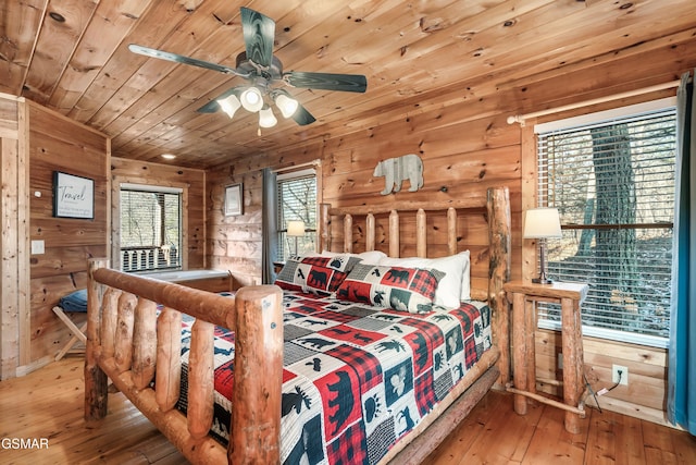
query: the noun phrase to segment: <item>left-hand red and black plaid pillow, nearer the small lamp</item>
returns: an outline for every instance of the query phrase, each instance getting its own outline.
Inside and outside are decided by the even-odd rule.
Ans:
[[[335,257],[304,257],[289,259],[275,283],[288,291],[331,295],[344,282],[348,272],[360,258],[337,255]]]

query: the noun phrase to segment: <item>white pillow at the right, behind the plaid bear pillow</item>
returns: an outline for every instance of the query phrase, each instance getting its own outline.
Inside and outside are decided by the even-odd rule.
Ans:
[[[435,291],[435,304],[446,308],[459,308],[461,301],[470,298],[469,250],[442,258],[382,258],[377,265],[405,268],[431,268],[445,273]],[[467,282],[465,290],[463,282]],[[464,297],[465,296],[465,297]]]

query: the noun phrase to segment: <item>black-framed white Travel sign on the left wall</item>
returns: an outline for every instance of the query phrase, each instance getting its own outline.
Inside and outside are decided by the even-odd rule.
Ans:
[[[53,217],[95,218],[95,181],[53,171]]]

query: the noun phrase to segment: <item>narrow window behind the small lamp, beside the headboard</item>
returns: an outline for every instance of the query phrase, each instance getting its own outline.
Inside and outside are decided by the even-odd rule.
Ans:
[[[277,176],[278,250],[277,259],[316,249],[316,173],[313,169],[282,173]],[[302,221],[304,234],[288,235],[288,222]]]

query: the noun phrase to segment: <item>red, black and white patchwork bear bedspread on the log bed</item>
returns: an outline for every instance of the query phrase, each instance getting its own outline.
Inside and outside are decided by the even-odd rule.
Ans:
[[[490,347],[484,303],[409,314],[286,291],[284,307],[284,464],[377,463]],[[234,334],[215,334],[212,433],[226,442]],[[183,376],[184,400],[186,389]]]

